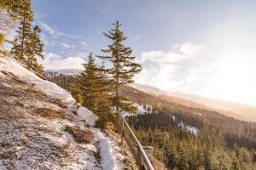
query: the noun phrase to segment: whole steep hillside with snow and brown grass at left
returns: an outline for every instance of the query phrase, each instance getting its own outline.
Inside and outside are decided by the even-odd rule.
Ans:
[[[119,139],[66,90],[0,56],[0,169],[123,169]]]

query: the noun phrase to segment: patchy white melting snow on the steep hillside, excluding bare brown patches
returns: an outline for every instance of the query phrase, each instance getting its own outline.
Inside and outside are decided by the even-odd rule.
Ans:
[[[26,70],[15,59],[0,56],[0,80],[1,77],[3,77],[1,71],[11,72],[23,82],[27,82],[34,88],[40,89],[50,98],[61,99],[61,101],[67,102],[70,107],[75,107],[75,100],[69,92],[58,87],[55,83],[42,80],[32,73],[32,71]],[[1,86],[8,87],[7,85],[8,84],[4,82]],[[14,87],[9,88],[15,89]],[[19,99],[18,97],[16,99]],[[27,103],[26,105],[33,105],[34,108],[38,106],[41,107],[42,105],[53,109],[59,108],[59,106],[46,100],[27,99],[24,102]],[[91,111],[84,107],[80,107],[77,111],[78,116],[74,116],[72,121],[66,119],[56,119],[52,121],[29,115],[30,111],[33,110],[28,111],[27,108],[22,108],[22,113],[27,117],[26,119],[17,121],[10,120],[9,122],[0,119],[0,143],[9,142],[17,145],[20,144],[23,135],[29,135],[27,137],[29,138],[27,143],[29,147],[20,144],[21,147],[17,146],[11,148],[12,150],[15,150],[14,153],[22,154],[22,156],[19,155],[20,160],[11,160],[15,165],[18,164],[17,169],[30,169],[33,168],[31,167],[32,165],[36,164],[41,165],[40,168],[43,169],[123,169],[124,156],[121,155],[121,150],[118,144],[113,141],[113,139],[110,139],[105,133],[102,133],[100,129],[93,127],[97,120],[97,116]],[[67,110],[66,112],[71,116],[73,115],[71,111]],[[11,113],[7,112],[4,114]],[[4,114],[2,112],[0,116],[4,116]],[[79,125],[79,127],[84,128],[84,122],[82,121],[86,122],[90,126],[90,131],[95,134],[95,138],[90,144],[77,144],[73,139],[73,136],[63,130],[67,125]],[[19,141],[19,143],[17,143],[16,140]],[[65,145],[67,145],[67,147]],[[57,158],[55,157],[55,154],[60,154],[56,148],[63,149],[62,151],[67,154],[67,158],[62,158],[61,155],[61,159],[63,159],[63,162],[61,162],[67,164],[65,167],[61,167],[56,160]],[[97,164],[93,154],[97,149],[100,151],[101,155],[100,165]],[[8,149],[0,146],[0,152],[3,151],[8,152]],[[0,169],[4,168],[2,167],[3,161],[4,160],[0,159]]]

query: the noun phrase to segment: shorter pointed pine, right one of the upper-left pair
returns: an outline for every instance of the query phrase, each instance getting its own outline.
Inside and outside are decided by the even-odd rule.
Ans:
[[[32,70],[37,71],[38,73],[43,71],[43,68],[41,65],[38,65],[37,57],[39,57],[40,59],[44,59],[44,44],[41,42],[40,37],[38,35],[40,32],[41,30],[39,26],[35,26],[33,28],[27,47],[29,48],[29,50],[27,52],[28,54],[26,60],[26,64],[30,68],[32,68]]]

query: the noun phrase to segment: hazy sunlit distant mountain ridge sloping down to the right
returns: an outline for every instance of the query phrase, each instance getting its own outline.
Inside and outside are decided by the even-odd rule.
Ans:
[[[190,107],[198,107],[203,109],[212,109],[218,111],[225,116],[231,116],[236,119],[256,122],[256,107],[250,105],[239,104],[231,101],[225,101],[221,99],[211,99],[194,94],[181,94],[175,92],[166,92],[159,88],[150,87],[141,84],[132,84],[132,88],[137,88],[148,94],[154,94],[168,99],[174,103],[180,105],[187,105]]]

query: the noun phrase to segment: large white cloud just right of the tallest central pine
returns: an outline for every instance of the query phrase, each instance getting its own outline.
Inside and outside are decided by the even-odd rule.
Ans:
[[[189,67],[181,65],[180,61],[196,59],[203,52],[202,45],[191,42],[174,45],[167,52],[163,50],[143,52],[141,54],[143,71],[137,75],[135,80],[137,83],[164,90],[183,88],[187,82],[196,81],[201,76],[201,71],[189,71]],[[181,77],[179,71],[183,71],[187,75]]]

